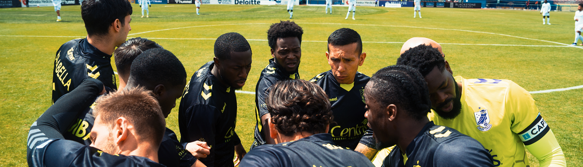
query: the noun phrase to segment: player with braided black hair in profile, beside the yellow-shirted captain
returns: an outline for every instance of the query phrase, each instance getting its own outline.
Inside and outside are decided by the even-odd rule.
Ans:
[[[494,166],[480,142],[427,119],[427,83],[415,68],[380,69],[367,83],[364,98],[377,149],[396,145],[382,166]]]

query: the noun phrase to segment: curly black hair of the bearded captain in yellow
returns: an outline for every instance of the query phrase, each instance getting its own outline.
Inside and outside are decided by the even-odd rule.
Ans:
[[[432,47],[431,44],[429,46],[420,44],[401,54],[401,57],[397,58],[396,65],[407,65],[416,68],[424,77],[436,66],[440,71],[443,71],[445,69],[444,62],[445,59],[437,48]]]

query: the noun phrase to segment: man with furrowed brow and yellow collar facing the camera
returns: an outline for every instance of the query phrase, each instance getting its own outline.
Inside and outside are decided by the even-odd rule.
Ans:
[[[330,98],[334,123],[329,134],[340,147],[354,149],[372,159],[377,153],[375,140],[364,117],[363,90],[370,77],[358,72],[366,53],[362,52],[360,34],[342,28],[328,37],[326,59],[331,69],[310,79]],[[349,133],[343,133],[349,131]]]

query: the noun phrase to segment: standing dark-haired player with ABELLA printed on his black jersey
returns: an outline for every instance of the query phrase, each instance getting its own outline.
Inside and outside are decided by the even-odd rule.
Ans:
[[[87,38],[68,41],[57,51],[52,71],[53,103],[73,91],[86,76],[99,79],[108,89],[117,89],[111,54],[132,30],[131,14],[132,5],[125,0],[82,2]]]

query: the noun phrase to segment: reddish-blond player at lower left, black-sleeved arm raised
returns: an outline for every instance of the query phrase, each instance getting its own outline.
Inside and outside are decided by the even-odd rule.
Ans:
[[[157,163],[156,152],[166,122],[152,92],[143,88],[97,99],[92,145],[63,138],[66,125],[74,119],[63,117],[66,112],[91,105],[98,93],[105,93],[103,83],[89,78],[33,123],[27,140],[29,166],[164,166]]]

